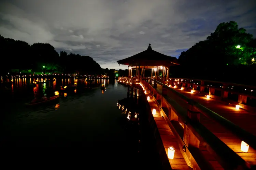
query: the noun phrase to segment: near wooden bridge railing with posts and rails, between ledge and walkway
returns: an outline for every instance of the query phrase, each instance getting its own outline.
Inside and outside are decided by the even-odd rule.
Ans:
[[[176,82],[176,81],[173,81]],[[212,112],[201,104],[187,98],[174,89],[168,88],[165,84],[153,79],[142,81],[151,92],[154,100],[158,103],[161,115],[168,122],[171,130],[179,138],[180,150],[188,165],[192,168],[213,169],[207,160],[199,152],[200,143],[206,146],[219,164],[224,169],[249,169],[247,163],[231,150],[224,142],[217,138],[200,122],[200,113],[221,123],[250,147],[256,149],[256,137],[227,119]],[[189,104],[189,110],[182,108],[174,99],[168,97],[168,91]],[[181,128],[180,122],[182,122]]]

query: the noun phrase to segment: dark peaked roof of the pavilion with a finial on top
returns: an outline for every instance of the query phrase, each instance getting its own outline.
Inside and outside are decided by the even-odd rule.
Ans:
[[[161,54],[155,50],[152,50],[151,44],[149,44],[147,50],[135,54],[131,57],[118,60],[118,64],[127,66],[172,66],[179,65],[176,57],[171,57],[165,54]]]

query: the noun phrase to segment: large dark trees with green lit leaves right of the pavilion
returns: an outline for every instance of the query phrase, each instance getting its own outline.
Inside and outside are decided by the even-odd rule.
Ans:
[[[252,84],[256,75],[256,39],[234,21],[221,23],[206,40],[179,56],[175,77]],[[254,82],[255,83],[255,82]]]

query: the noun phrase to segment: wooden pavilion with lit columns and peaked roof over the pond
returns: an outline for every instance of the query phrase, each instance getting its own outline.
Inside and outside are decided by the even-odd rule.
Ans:
[[[155,77],[156,80],[159,79],[159,71],[162,73],[162,78],[166,75],[165,77],[168,79],[170,67],[179,65],[176,57],[152,50],[151,44],[148,45],[147,50],[123,60],[118,60],[117,63],[128,66],[129,78],[132,77],[132,70],[136,70],[137,78],[144,77],[145,71],[151,70],[151,78]],[[153,70],[155,71],[155,76],[153,76]]]

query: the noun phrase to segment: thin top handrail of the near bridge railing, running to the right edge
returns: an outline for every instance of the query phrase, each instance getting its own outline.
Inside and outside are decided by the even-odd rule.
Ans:
[[[151,79],[153,80],[153,79]],[[160,82],[153,80],[154,82],[160,84]],[[161,83],[162,84],[162,83]],[[203,105],[197,103],[196,101],[189,99],[188,97],[182,95],[180,92],[169,88],[175,95],[179,96],[192,106],[194,106],[195,109],[200,111],[203,115],[213,119],[214,121],[220,123],[222,126],[224,126],[226,129],[231,131],[234,135],[236,135],[239,139],[246,142],[248,145],[250,145],[253,149],[256,150],[256,136],[252,135],[251,133],[245,131],[244,129],[240,128],[238,125],[234,124],[233,122],[227,120],[226,118],[218,115],[217,113],[211,111],[210,109],[204,107]]]

